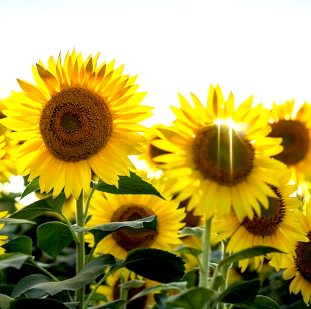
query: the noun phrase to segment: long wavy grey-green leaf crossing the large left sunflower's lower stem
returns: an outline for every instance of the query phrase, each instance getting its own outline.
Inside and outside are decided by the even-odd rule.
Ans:
[[[50,295],[57,294],[63,290],[76,291],[85,287],[88,283],[96,279],[103,274],[106,267],[115,265],[115,257],[110,254],[105,254],[99,258],[95,258],[91,262],[87,263],[85,267],[73,278],[69,278],[64,281],[58,282],[41,282],[41,283],[29,283],[19,286],[19,283],[15,286],[15,297],[19,297],[24,292],[31,289],[42,290]],[[13,295],[13,294],[12,294]]]

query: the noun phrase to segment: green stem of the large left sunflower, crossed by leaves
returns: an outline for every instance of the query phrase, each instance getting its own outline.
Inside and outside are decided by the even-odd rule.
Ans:
[[[81,228],[85,225],[84,215],[84,192],[82,190],[80,197],[76,201],[76,224]],[[77,232],[78,242],[76,242],[76,273],[79,274],[85,265],[85,244],[84,231]],[[80,303],[79,308],[83,308],[85,297],[85,287],[76,291],[76,301]]]

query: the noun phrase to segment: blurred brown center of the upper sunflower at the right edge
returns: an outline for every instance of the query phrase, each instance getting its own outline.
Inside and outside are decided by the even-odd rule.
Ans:
[[[273,158],[282,161],[286,165],[294,165],[305,158],[310,147],[310,137],[305,124],[295,120],[279,120],[271,124],[272,131],[268,136],[282,137],[281,153]]]

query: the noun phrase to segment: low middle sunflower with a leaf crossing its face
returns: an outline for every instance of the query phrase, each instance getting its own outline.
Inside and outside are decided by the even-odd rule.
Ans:
[[[147,194],[103,194],[95,192],[90,203],[88,227],[109,222],[132,221],[157,216],[157,230],[146,228],[122,228],[108,235],[99,242],[97,253],[111,253],[124,259],[128,251],[135,248],[148,247],[170,251],[172,246],[181,244],[178,231],[183,228],[181,220],[185,217],[183,209],[178,209],[178,202],[165,201],[155,195]],[[93,246],[92,235],[85,235],[86,242]]]

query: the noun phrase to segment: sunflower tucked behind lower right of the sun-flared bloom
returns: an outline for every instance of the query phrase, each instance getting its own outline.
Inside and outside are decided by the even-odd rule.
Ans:
[[[228,219],[215,220],[213,229],[219,234],[215,242],[229,239],[226,252],[236,253],[253,246],[269,246],[289,252],[292,242],[308,241],[305,231],[301,228],[302,212],[298,208],[302,203],[296,197],[289,197],[297,188],[297,185],[287,185],[290,176],[290,171],[275,174],[280,186],[270,185],[270,187],[277,198],[269,197],[269,207],[266,209],[260,206],[260,213],[253,219],[246,217],[241,223],[232,211]],[[280,262],[281,254],[269,253],[268,257],[274,266]],[[242,267],[241,270],[244,272],[246,267],[253,264],[254,269],[260,270],[263,262],[264,256],[256,256],[251,260],[240,260],[239,267]]]

